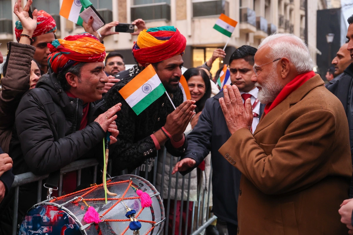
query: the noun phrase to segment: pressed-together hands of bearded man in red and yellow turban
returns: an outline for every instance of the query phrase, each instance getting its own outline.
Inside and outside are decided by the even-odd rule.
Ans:
[[[191,117],[195,114],[193,110],[196,108],[196,105],[194,104],[195,101],[186,100],[167,116],[164,129],[169,132],[174,141],[178,142],[183,138],[187,124],[189,124]]]

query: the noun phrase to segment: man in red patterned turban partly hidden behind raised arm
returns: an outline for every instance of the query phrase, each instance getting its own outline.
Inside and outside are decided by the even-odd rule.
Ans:
[[[50,14],[41,10],[38,11],[37,16],[37,27],[33,32],[33,35],[28,35],[33,39],[31,45],[36,48],[34,53],[34,60],[41,65],[41,73],[48,72],[47,57],[49,55],[49,49],[47,43],[52,43],[55,40],[54,33],[56,32],[55,20]],[[20,35],[23,33],[23,27],[21,22],[16,21],[15,35],[17,41],[20,40]],[[24,33],[25,34],[25,33]]]

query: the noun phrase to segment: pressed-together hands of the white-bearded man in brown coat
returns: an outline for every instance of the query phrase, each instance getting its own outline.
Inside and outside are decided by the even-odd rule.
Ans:
[[[223,90],[224,98],[220,98],[219,102],[229,131],[233,133],[241,128],[250,130],[253,114],[250,98],[245,100],[245,108],[243,100],[237,86],[227,85]]]

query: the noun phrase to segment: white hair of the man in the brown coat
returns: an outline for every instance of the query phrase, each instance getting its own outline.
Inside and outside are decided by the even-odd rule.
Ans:
[[[259,49],[267,44],[271,51],[268,58],[276,60],[286,57],[291,61],[299,74],[309,72],[314,65],[306,44],[297,36],[290,33],[276,33],[265,38]]]

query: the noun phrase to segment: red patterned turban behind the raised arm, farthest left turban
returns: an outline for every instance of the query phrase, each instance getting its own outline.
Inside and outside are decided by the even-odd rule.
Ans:
[[[20,41],[20,35],[22,31],[23,31],[22,24],[19,20],[17,20],[16,27],[15,27],[17,42]],[[34,31],[32,37],[37,37],[45,33],[51,33],[51,32],[55,33],[55,31],[56,31],[56,23],[54,18],[43,10],[38,11],[37,28]]]

